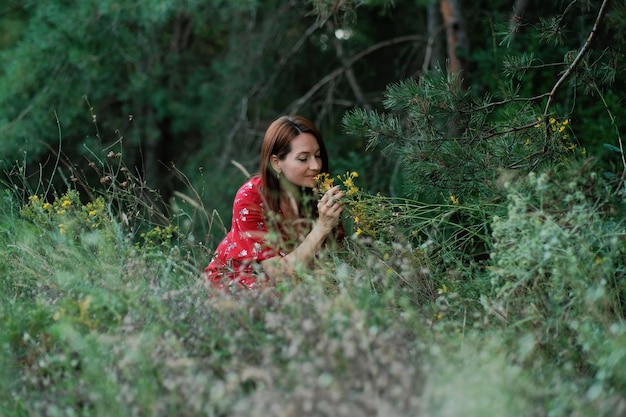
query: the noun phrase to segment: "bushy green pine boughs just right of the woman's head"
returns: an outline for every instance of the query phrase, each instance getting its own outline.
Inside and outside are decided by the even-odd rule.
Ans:
[[[515,101],[498,109],[489,98],[459,92],[457,80],[441,71],[391,85],[384,103],[391,114],[356,109],[344,127],[402,161],[406,190],[418,200],[497,198],[503,172],[529,172],[577,152],[568,119],[543,122]],[[513,126],[500,120],[512,114]]]

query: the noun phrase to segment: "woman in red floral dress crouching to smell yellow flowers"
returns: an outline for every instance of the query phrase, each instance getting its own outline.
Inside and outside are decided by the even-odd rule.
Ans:
[[[206,278],[214,284],[280,279],[308,266],[329,238],[343,238],[343,192],[315,194],[316,176],[328,173],[322,135],[301,116],[282,116],[265,132],[260,173],[237,192],[232,226],[218,245]],[[314,221],[315,220],[315,221]]]

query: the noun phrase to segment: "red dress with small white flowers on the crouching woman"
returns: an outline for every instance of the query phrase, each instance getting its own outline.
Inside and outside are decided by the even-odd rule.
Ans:
[[[204,269],[214,284],[240,283],[253,288],[257,278],[265,278],[260,262],[285,253],[270,246],[266,239],[267,219],[261,196],[261,177],[246,181],[235,195],[231,229],[215,249]]]

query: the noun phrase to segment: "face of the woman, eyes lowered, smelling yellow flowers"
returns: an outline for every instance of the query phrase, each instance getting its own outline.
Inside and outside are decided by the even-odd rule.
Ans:
[[[301,133],[291,141],[291,151],[280,160],[272,155],[274,169],[294,185],[313,188],[315,176],[322,169],[322,157],[317,139],[310,133]]]

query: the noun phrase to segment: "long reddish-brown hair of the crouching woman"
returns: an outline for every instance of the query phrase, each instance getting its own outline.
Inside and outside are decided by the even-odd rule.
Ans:
[[[317,139],[322,158],[320,173],[328,173],[328,153],[322,139],[322,134],[315,125],[302,116],[281,116],[267,128],[263,145],[261,146],[261,181],[263,183],[263,197],[268,205],[267,209],[273,212],[280,210],[280,181],[272,168],[270,159],[276,155],[284,160],[291,152],[291,141],[301,133],[310,133]],[[303,189],[304,194],[312,195],[313,190]],[[309,198],[309,200],[313,200]],[[302,202],[301,202],[302,203]],[[312,206],[313,207],[313,206]],[[315,211],[313,207],[313,212]]]

